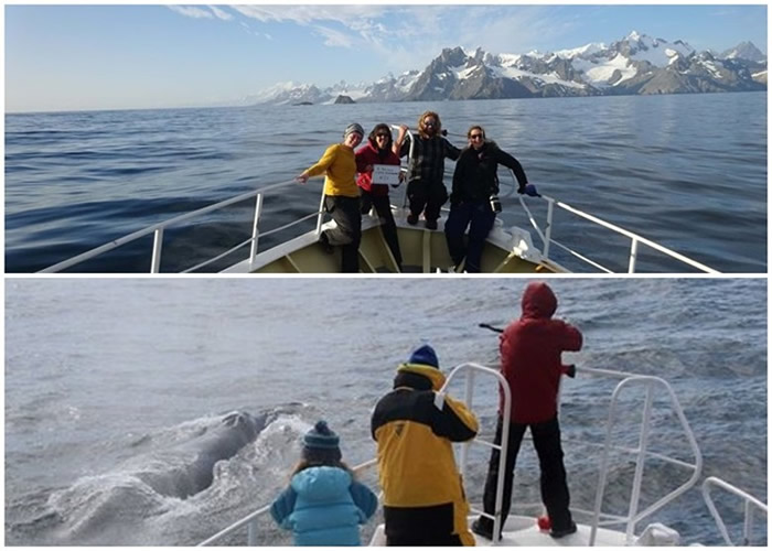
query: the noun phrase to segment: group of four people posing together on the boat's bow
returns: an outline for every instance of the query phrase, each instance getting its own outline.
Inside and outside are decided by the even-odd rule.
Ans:
[[[440,209],[450,198],[444,234],[453,269],[460,270],[463,266],[468,273],[479,272],[485,238],[501,212],[496,170],[500,164],[512,169],[518,193],[525,193],[528,184],[525,171],[517,159],[489,140],[479,125],[467,131],[468,144],[463,149],[446,138],[440,117],[435,111],[426,111],[418,118],[418,131],[410,138],[412,147],[406,139],[409,131],[403,125],[395,140],[388,125],[376,125],[367,143],[357,150],[365,131],[354,122],[346,127],[341,143],[330,145],[319,162],[298,175],[301,183],[312,176],[325,176],[324,208],[335,220],[335,227],[324,230],[320,241],[329,252],[341,247],[342,272],[358,272],[362,215],[375,208],[384,239],[401,271],[403,256],[392,214],[389,186],[374,183],[373,172],[379,164],[399,166],[400,158],[409,154],[407,223],[416,226],[422,215],[426,228],[436,230]],[[446,159],[457,161],[450,196],[443,181]],[[469,239],[464,242],[468,228]]]

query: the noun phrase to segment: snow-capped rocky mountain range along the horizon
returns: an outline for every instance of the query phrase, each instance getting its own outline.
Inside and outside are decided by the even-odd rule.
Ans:
[[[716,54],[633,31],[610,45],[591,43],[548,53],[444,48],[423,71],[389,74],[372,84],[340,82],[329,88],[277,84],[243,104],[330,104],[340,96],[366,102],[765,89],[766,56],[750,42]]]

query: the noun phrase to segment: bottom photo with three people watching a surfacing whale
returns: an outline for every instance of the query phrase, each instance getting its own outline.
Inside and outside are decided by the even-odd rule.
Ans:
[[[8,545],[766,545],[735,279],[6,279]]]

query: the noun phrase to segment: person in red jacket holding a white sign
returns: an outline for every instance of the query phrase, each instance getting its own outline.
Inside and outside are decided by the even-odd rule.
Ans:
[[[397,225],[392,214],[392,202],[388,198],[388,185],[373,184],[374,164],[394,164],[399,166],[399,156],[392,151],[392,130],[388,125],[376,125],[367,138],[367,143],[356,152],[356,171],[360,177],[356,185],[361,188],[360,206],[362,214],[369,213],[372,207],[380,218],[380,230],[388,245],[399,271],[403,269],[403,253],[397,239]]]

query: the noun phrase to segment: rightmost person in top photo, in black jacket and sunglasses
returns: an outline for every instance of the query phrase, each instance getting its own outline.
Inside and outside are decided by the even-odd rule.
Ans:
[[[485,139],[485,130],[482,127],[470,128],[467,138],[469,147],[461,151],[455,163],[450,215],[444,225],[444,234],[454,270],[460,269],[465,258],[465,271],[476,273],[480,271],[485,238],[493,227],[496,213],[501,212],[496,169],[503,164],[514,171],[518,184],[517,193],[525,193],[528,179],[517,159],[498,149],[495,142]],[[469,244],[464,246],[463,236],[467,228]]]

